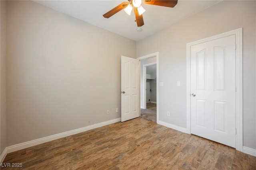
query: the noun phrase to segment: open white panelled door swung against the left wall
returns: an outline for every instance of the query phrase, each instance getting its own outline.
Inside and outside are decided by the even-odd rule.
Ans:
[[[121,56],[121,121],[139,117],[139,60]]]

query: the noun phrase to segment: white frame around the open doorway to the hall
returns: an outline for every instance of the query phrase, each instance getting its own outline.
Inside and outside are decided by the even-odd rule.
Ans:
[[[152,54],[149,54],[149,55],[144,55],[142,57],[138,57],[137,59],[139,60],[139,72],[140,72],[140,61],[141,60],[144,60],[144,59],[149,59],[149,58],[152,58],[152,57],[156,57],[156,123],[159,122],[159,88],[158,88],[158,79],[159,79],[159,53],[156,52],[156,53],[152,53]],[[140,81],[140,78],[139,78],[139,81]],[[139,82],[140,84],[141,82]],[[139,92],[140,93],[140,92]],[[141,96],[140,96],[141,97]],[[140,102],[139,102],[140,104]],[[140,107],[139,107],[140,108]],[[159,124],[159,123],[158,123]]]

